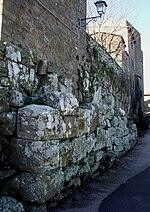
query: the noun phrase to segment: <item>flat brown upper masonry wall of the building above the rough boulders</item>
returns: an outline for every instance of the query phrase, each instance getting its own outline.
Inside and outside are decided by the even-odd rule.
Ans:
[[[75,81],[76,55],[85,39],[77,19],[84,18],[85,11],[86,0],[5,0],[1,40],[34,50],[49,72],[73,76]]]

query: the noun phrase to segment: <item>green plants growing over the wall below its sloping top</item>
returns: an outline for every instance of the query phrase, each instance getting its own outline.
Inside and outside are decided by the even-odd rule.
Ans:
[[[112,67],[109,67],[105,61],[102,61],[97,46],[94,46],[85,57],[81,57],[78,69],[78,93],[82,103],[92,101],[94,92],[100,86],[104,86],[105,82],[110,84],[108,89],[112,87],[119,98],[123,98],[128,92],[128,82],[125,74],[118,75]],[[77,57],[78,58],[78,57]],[[86,62],[85,62],[86,61]],[[89,81],[88,89],[84,90],[84,80]],[[104,86],[105,87],[105,86]],[[106,94],[102,95],[102,99],[107,98]]]

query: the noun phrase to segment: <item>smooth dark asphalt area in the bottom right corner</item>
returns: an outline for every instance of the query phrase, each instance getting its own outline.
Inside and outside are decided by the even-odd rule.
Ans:
[[[150,168],[129,179],[111,193],[98,212],[149,212]]]

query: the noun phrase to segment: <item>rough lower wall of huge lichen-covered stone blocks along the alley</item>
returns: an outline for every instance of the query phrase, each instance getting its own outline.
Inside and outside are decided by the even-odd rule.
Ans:
[[[136,143],[125,73],[91,38],[76,55],[78,81],[52,72],[36,54],[0,45],[0,166],[5,194],[30,204],[113,166]]]

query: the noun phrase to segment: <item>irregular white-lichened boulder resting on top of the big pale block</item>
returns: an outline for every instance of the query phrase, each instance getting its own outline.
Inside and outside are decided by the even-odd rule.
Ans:
[[[78,100],[71,93],[51,92],[43,97],[45,105],[61,111],[62,115],[74,115],[79,106]]]

